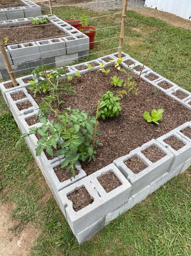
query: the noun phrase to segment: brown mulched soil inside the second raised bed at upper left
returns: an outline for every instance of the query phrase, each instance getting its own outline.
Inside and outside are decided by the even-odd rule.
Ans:
[[[8,44],[17,44],[25,41],[36,41],[46,38],[65,37],[67,35],[51,22],[37,26],[32,23],[26,25],[0,26],[0,34],[3,38],[8,37]]]

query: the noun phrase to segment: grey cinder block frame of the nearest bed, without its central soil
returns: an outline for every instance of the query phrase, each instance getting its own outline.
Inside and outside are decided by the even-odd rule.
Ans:
[[[60,21],[58,21],[57,25],[60,26]],[[124,68],[130,69],[137,66],[142,67],[143,65],[126,53],[123,53],[123,57],[122,66]],[[104,56],[94,61],[76,64],[68,67],[70,71],[69,74],[73,76],[76,71],[79,71],[81,74],[94,72],[94,70],[100,68],[102,62],[106,66],[109,66],[109,64],[111,64],[110,61],[116,61],[116,59],[117,53],[113,53],[112,55]],[[91,70],[88,69],[89,63],[93,67]],[[41,125],[38,120],[33,124],[27,123],[28,119],[35,117],[38,112],[38,106],[34,103],[34,100],[26,90],[29,84],[25,79],[32,78],[32,75],[30,75],[17,79],[20,86],[16,88],[5,88],[6,84],[9,84],[10,81],[0,84],[3,97],[9,105],[10,110],[13,112],[21,133],[28,132],[30,127]],[[167,97],[173,97],[176,102],[190,109],[188,106],[190,93],[182,90],[178,85],[163,78],[147,67],[145,68],[145,72],[141,75],[141,78],[148,81],[153,88],[157,87],[159,90],[163,91]],[[179,94],[173,96],[177,91],[183,92],[186,94],[186,97],[180,99],[178,98]],[[17,92],[23,92],[24,98],[14,100],[13,96]],[[26,101],[30,102],[32,106],[24,111],[19,110],[17,104]],[[111,162],[113,162],[112,164],[95,171],[89,176],[87,176],[81,166],[76,166],[79,170],[76,179],[71,177],[64,182],[60,181],[56,175],[56,168],[58,168],[64,160],[64,155],[48,159],[47,154],[42,152],[41,156],[36,157],[35,147],[38,139],[34,134],[25,139],[54,198],[69,223],[73,234],[77,237],[79,243],[83,243],[101,230],[104,225],[112,221],[112,219],[131,209],[172,177],[177,176],[189,168],[191,165],[190,131],[191,122],[186,122],[167,134],[159,136],[157,139],[147,141],[140,147],[134,148],[134,150],[131,150],[128,154],[124,150],[124,156],[118,159],[110,159]],[[178,148],[172,147],[171,141],[169,140],[171,137],[174,137],[174,140],[178,141]],[[151,148],[152,150],[150,152]],[[153,151],[153,148],[157,151]],[[149,154],[147,154],[148,151],[150,152]],[[144,167],[142,167],[141,170],[138,170],[137,167],[134,170],[133,167],[129,165],[129,160],[131,159],[131,162],[134,157],[138,158],[141,164],[143,164]],[[137,170],[138,172],[136,172]],[[119,186],[107,191],[100,181],[100,178],[104,177],[104,175],[114,175],[119,181]],[[88,194],[89,203],[81,209],[78,209],[70,196],[73,193],[78,193],[78,190],[81,189]]]

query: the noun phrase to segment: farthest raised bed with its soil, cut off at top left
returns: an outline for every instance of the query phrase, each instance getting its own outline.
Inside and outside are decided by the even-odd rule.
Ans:
[[[5,0],[0,5],[0,21],[23,19],[40,15],[42,15],[40,6],[29,0]]]

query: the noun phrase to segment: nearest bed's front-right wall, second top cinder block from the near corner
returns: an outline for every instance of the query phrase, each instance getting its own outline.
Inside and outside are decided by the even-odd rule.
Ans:
[[[150,146],[156,146],[161,151],[163,151],[166,155],[165,157],[159,159],[157,162],[152,163],[149,159],[147,159],[141,151],[144,151],[146,148]],[[140,171],[138,174],[134,174],[132,170],[130,170],[125,162],[128,158],[138,157],[147,167]],[[132,184],[131,195],[134,195],[139,192],[140,189],[148,186],[151,182],[155,181],[158,177],[163,175],[168,171],[170,164],[172,163],[172,159],[174,155],[167,150],[164,146],[159,144],[155,139],[143,144],[141,147],[135,148],[129,154],[123,157],[119,157],[114,160],[114,164],[119,168],[119,170],[124,174],[128,181]]]

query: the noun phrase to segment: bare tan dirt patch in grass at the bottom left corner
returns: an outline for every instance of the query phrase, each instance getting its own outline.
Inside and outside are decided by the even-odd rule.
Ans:
[[[17,221],[11,218],[14,207],[13,204],[0,205],[0,255],[28,256],[40,230],[28,223],[21,233],[14,235],[9,230],[17,224]]]

